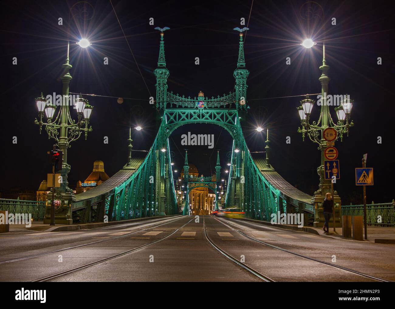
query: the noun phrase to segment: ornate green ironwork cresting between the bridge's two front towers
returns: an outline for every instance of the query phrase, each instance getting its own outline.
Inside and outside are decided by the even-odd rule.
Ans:
[[[167,99],[166,99],[166,108],[174,108],[174,107],[183,107],[183,108],[195,108],[198,106],[199,102],[204,102],[205,107],[211,108],[225,108],[227,105],[232,104],[235,102],[236,97],[235,93],[229,92],[227,95],[217,96],[216,98],[211,97],[194,97],[191,98],[190,96],[179,96],[177,94],[173,94],[173,92],[167,92]]]

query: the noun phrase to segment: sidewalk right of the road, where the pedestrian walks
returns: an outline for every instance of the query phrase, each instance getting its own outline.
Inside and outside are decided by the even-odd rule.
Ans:
[[[333,228],[329,228],[329,233],[325,233],[322,230],[322,228],[314,228],[313,226],[303,226],[303,228],[299,228],[297,225],[271,224],[271,222],[269,222],[269,221],[261,221],[261,220],[254,220],[254,219],[248,219],[248,218],[243,218],[243,220],[251,221],[251,222],[259,223],[259,224],[264,224],[264,225],[272,226],[275,228],[284,228],[287,230],[307,232],[307,233],[311,233],[311,234],[316,234],[316,235],[331,237],[331,238],[336,238],[336,239],[357,241],[352,238],[342,237],[343,231],[342,231],[341,227],[336,228],[337,234],[335,234],[333,232]],[[373,243],[395,244],[395,227],[368,226],[367,227],[367,234],[368,234],[367,240],[365,240],[365,234],[363,234],[363,237],[364,237],[363,241],[369,241],[369,242],[373,242]]]

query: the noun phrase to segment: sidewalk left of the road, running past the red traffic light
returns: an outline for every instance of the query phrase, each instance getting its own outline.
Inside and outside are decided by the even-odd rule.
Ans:
[[[150,219],[160,219],[160,218],[171,218],[177,217],[179,215],[169,215],[169,216],[156,216],[156,217],[145,217],[138,219],[120,220],[120,221],[110,221],[104,222],[94,222],[94,223],[83,223],[83,224],[56,224],[55,226],[50,226],[49,224],[43,224],[43,221],[33,221],[32,226],[26,228],[24,224],[10,224],[9,232],[4,232],[0,234],[15,234],[21,232],[61,232],[61,231],[73,231],[82,230],[86,228],[100,228],[103,226],[125,224],[139,221],[146,221]]]

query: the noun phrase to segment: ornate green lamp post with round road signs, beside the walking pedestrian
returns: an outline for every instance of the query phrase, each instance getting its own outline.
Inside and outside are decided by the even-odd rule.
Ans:
[[[314,46],[315,43],[312,42],[312,40],[305,40],[301,45],[306,48],[310,48]],[[331,180],[325,180],[324,176],[324,152],[325,149],[328,147],[327,141],[324,139],[324,130],[326,128],[333,128],[334,130],[336,130],[337,137],[335,140],[333,140],[333,142],[335,142],[338,139],[342,141],[343,134],[347,134],[348,136],[350,127],[354,126],[354,122],[350,121],[350,114],[354,101],[350,100],[349,96],[346,95],[346,98],[344,98],[340,102],[340,105],[335,107],[336,115],[338,118],[337,123],[333,121],[329,112],[329,106],[331,106],[332,104],[327,104],[328,84],[330,79],[327,75],[329,66],[326,65],[325,61],[325,42],[323,45],[323,59],[320,70],[322,71],[322,74],[318,80],[321,83],[321,99],[318,100],[317,103],[321,106],[321,111],[318,121],[313,121],[310,124],[310,115],[315,102],[314,100],[311,100],[308,96],[306,96],[304,100],[300,101],[301,106],[297,108],[302,126],[302,128],[298,128],[298,132],[302,134],[303,141],[305,140],[305,136],[307,135],[311,141],[318,144],[318,149],[321,151],[321,165],[317,168],[317,173],[320,176],[320,184],[318,185],[319,189],[314,192],[314,196],[311,200],[311,202],[314,203],[316,206],[316,218],[314,220],[314,226],[317,227],[322,227],[324,220],[323,214],[318,211],[318,205],[320,205],[320,203],[322,203],[322,201],[324,200],[325,194],[327,192],[331,192]],[[333,104],[335,103],[336,102],[333,102]],[[334,203],[337,203],[340,207],[341,200],[340,197],[337,195],[336,191],[334,192],[333,200]]]

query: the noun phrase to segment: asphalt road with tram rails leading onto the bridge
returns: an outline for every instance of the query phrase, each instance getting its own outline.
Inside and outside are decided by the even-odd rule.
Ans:
[[[258,243],[237,230],[334,266],[395,281],[395,245],[212,216],[201,216],[199,222],[188,216],[70,232],[0,234],[0,281],[35,281],[62,272],[48,281],[263,281],[243,265],[273,281],[375,281]],[[240,263],[214,248],[206,232]],[[26,258],[38,254],[43,255]],[[14,259],[20,260],[6,262]]]

